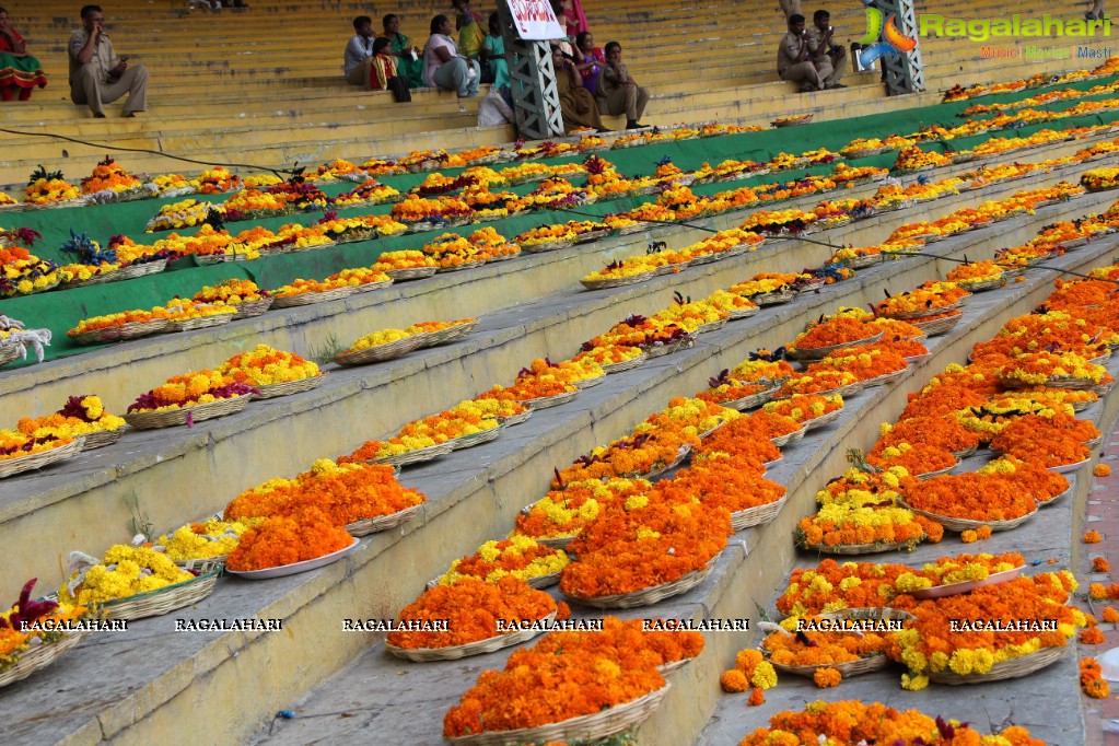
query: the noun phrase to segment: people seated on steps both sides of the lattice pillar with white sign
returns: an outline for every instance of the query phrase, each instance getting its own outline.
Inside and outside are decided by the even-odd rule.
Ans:
[[[342,56],[346,81],[370,91],[392,89],[397,102],[410,101],[411,88],[434,87],[468,98],[478,95],[480,84],[490,84],[490,94],[479,107],[479,124],[511,123],[509,68],[498,13],[489,15],[483,30],[483,16],[470,0],[451,0],[451,4],[454,26],[449,16],[432,18],[422,49],[401,32],[395,13],[385,16],[384,31],[376,38],[368,16],[355,18],[356,35]],[[552,44],[565,129],[605,131],[600,114],[624,114],[627,129],[641,128],[649,92],[622,64],[621,45],[611,41],[605,50],[594,46],[579,0],[556,0],[554,9],[561,28],[571,34]]]

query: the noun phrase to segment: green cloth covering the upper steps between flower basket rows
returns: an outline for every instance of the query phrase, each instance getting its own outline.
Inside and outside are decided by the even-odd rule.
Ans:
[[[1096,85],[1115,78],[1101,78],[1094,81],[1080,81],[1055,86],[1057,89],[1075,88],[1088,91]],[[962,101],[950,104],[938,104],[920,108],[908,108],[899,112],[887,112],[872,114],[846,120],[812,123],[796,128],[765,130],[762,132],[747,132],[741,134],[722,135],[700,140],[685,140],[681,142],[667,142],[623,150],[612,150],[603,153],[602,157],[609,160],[619,172],[629,177],[649,174],[656,168],[658,160],[669,155],[673,162],[686,170],[698,169],[704,162],[716,166],[726,159],[768,161],[781,152],[800,153],[807,149],[827,148],[836,151],[856,138],[880,136],[888,134],[910,134],[916,132],[922,126],[940,124],[942,126],[956,126],[965,120],[957,116],[963,110],[976,103],[991,104],[1021,101],[1036,95],[1044,88],[1034,91],[1021,91],[1017,93],[1006,93],[994,96],[984,96],[978,100]],[[1100,94],[1108,96],[1111,94]],[[1081,100],[1090,100],[1092,96],[1066,102],[1054,102],[1047,107],[1053,110],[1068,108]],[[1066,104],[1066,105],[1065,105]],[[988,115],[990,116],[990,115]],[[986,119],[986,117],[976,117]],[[1119,113],[1107,112],[1102,114],[1089,114],[1079,117],[1060,120],[1059,122],[1041,123],[1022,128],[1017,131],[1007,131],[1005,136],[1013,136],[1015,132],[1022,135],[1032,134],[1046,128],[1063,129],[1068,126],[1083,126],[1088,124],[1101,124],[1119,120]],[[952,148],[962,150],[986,141],[991,133],[975,135],[972,138],[960,138],[952,141]],[[930,148],[942,148],[939,143],[925,145]],[[858,166],[875,166],[890,168],[893,166],[896,155],[894,153],[883,153],[874,158],[861,159]],[[582,161],[582,155],[570,155],[564,158],[548,159],[543,162],[555,164],[573,161]],[[126,160],[122,163],[128,168]],[[781,174],[758,177],[754,179],[736,182],[733,188],[741,186],[756,186],[760,183],[772,183],[775,181],[788,181],[801,174],[828,173],[831,166],[817,166],[800,171],[789,171]],[[454,174],[461,169],[442,170],[445,174]],[[69,174],[75,180],[78,174]],[[413,186],[420,183],[426,174],[405,174],[397,177],[386,177],[380,179],[395,189],[404,192]],[[581,179],[573,179],[580,183]],[[327,183],[321,185],[321,189],[331,197],[351,189],[351,183]],[[530,191],[535,185],[525,185],[514,188],[517,193]],[[695,187],[697,195],[712,195],[728,189],[726,183],[713,183]],[[196,199],[220,202],[227,195],[196,196]],[[826,198],[821,195],[821,198]],[[154,216],[162,205],[179,201],[178,199],[162,200],[140,200],[124,202],[120,205],[97,205],[83,207],[79,209],[59,210],[36,210],[28,213],[0,214],[0,226],[4,228],[29,227],[43,234],[43,242],[32,248],[32,253],[47,259],[60,264],[68,263],[68,259],[58,252],[58,247],[69,238],[70,229],[77,233],[87,233],[91,238],[98,240],[102,246],[107,244],[109,237],[115,234],[124,234],[138,244],[150,244],[167,233],[145,234],[144,225]],[[622,213],[649,201],[650,198],[626,198],[610,201],[595,202],[580,208],[580,213],[594,216],[604,216],[612,213]],[[377,207],[354,207],[340,209],[339,215],[364,215],[364,214],[387,214],[391,206]],[[231,223],[227,228],[231,233],[236,233],[252,225],[262,225],[270,229],[275,229],[288,223],[299,223],[308,225],[322,217],[321,211],[303,215],[286,216],[256,220],[253,223]],[[562,223],[579,216],[566,211],[534,213],[528,216],[499,220],[487,224],[492,225],[498,233],[513,237],[524,230],[549,223]],[[453,229],[458,234],[469,234],[479,226],[466,226]],[[179,232],[189,235],[195,229]],[[419,249],[426,240],[430,240],[438,233],[413,234],[382,238],[356,244],[346,244],[327,249],[305,252],[300,254],[288,254],[280,256],[269,256],[252,262],[223,263],[216,265],[198,265],[192,258],[180,259],[172,264],[167,272],[135,280],[128,280],[115,283],[106,283],[92,287],[77,287],[64,292],[48,292],[38,295],[12,298],[0,301],[0,313],[10,318],[19,319],[30,328],[46,327],[51,330],[54,340],[51,347],[47,348],[47,358],[81,353],[91,347],[75,346],[66,338],[66,331],[76,325],[82,319],[94,315],[114,313],[130,309],[149,309],[160,305],[175,296],[189,298],[201,290],[204,285],[211,285],[229,277],[244,277],[256,282],[261,287],[275,289],[298,278],[322,278],[329,274],[347,267],[368,266],[373,264],[383,252],[399,251],[404,248]]]

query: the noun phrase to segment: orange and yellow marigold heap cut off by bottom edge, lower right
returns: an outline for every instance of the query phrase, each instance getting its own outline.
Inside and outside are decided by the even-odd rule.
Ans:
[[[892,744],[910,739],[929,746],[965,746],[988,739],[1021,746],[1042,743],[1031,738],[1029,731],[1021,726],[1006,727],[996,736],[984,736],[967,723],[947,720],[939,715],[931,718],[918,710],[896,710],[882,702],[817,700],[809,702],[803,711],[782,710],[773,715],[769,727],[747,734],[741,746],[802,743],[798,740],[802,733],[814,734],[814,739],[815,734],[819,734],[822,744]]]

